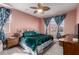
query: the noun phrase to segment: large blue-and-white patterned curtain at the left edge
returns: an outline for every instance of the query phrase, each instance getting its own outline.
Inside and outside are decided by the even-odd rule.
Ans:
[[[9,18],[10,12],[10,9],[0,7],[0,40],[5,40],[3,27]]]

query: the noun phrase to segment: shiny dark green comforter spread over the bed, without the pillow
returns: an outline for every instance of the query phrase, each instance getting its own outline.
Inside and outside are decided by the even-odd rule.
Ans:
[[[33,51],[36,49],[38,45],[41,45],[48,40],[53,40],[53,37],[51,37],[50,35],[38,35],[34,37],[21,38],[21,42],[29,46]]]

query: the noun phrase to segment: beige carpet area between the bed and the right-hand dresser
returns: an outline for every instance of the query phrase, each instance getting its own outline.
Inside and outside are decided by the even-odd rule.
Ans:
[[[56,42],[44,55],[63,55],[63,48]]]

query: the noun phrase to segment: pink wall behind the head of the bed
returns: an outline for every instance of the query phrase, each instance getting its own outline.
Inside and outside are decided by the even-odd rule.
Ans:
[[[25,14],[18,10],[12,10],[12,18],[10,23],[10,32],[14,33],[17,30],[35,30],[40,32],[39,18]]]

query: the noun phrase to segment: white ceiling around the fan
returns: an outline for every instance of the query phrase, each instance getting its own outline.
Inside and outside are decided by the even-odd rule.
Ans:
[[[75,9],[78,5],[77,3],[44,3],[44,4],[50,7],[50,10],[46,11],[44,14],[38,14],[38,13],[34,14],[35,10],[30,8],[32,6],[37,7],[37,3],[8,3],[7,5],[17,10],[20,10],[24,13],[28,13],[30,15],[41,18],[65,14],[68,11]]]

